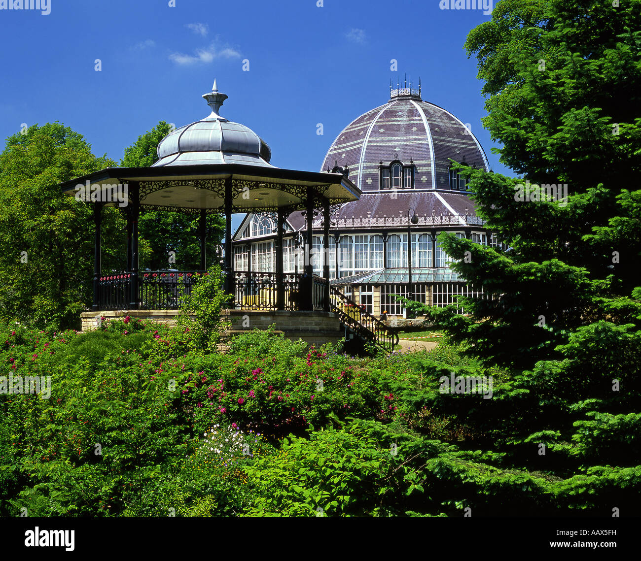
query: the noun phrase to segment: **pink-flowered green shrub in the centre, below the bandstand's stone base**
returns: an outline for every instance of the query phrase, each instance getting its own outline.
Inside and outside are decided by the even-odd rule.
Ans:
[[[331,416],[373,414],[385,401],[369,370],[345,364],[329,346],[306,351],[273,330],[238,337],[228,354],[200,368],[210,376],[185,394],[186,407],[196,405],[198,428],[224,418],[278,438],[304,434],[310,423],[324,425]]]

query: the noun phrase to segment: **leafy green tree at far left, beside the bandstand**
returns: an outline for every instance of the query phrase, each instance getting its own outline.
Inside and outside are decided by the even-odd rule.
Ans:
[[[62,124],[13,134],[0,154],[0,313],[76,327],[92,299],[94,227],[90,206],[58,184],[114,165],[94,156],[83,136]],[[116,209],[103,218],[103,267],[120,268],[126,245]]]

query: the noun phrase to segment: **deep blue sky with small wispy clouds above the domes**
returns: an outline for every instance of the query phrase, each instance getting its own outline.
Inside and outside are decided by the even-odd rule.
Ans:
[[[514,175],[490,152],[476,59],[463,51],[490,15],[440,10],[438,0],[322,4],[49,0],[49,15],[0,10],[0,136],[58,120],[119,161],[159,120],[206,117],[201,95],[215,77],[229,95],[221,115],[262,136],[272,164],[317,171],[337,134],[407,73],[420,76],[425,101],[470,123],[495,171]]]

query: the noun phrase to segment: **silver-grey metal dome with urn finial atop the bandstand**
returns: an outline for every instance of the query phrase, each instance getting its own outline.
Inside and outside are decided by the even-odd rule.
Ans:
[[[199,164],[251,164],[274,167],[265,141],[244,125],[221,117],[218,112],[227,95],[213,83],[204,99],[212,108],[208,117],[175,129],[158,144],[154,167]]]

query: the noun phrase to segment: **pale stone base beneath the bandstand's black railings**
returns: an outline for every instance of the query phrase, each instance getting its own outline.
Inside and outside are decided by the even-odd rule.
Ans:
[[[301,339],[308,345],[316,347],[326,343],[338,343],[345,338],[338,316],[332,312],[303,311],[265,311],[265,310],[223,310],[221,313],[231,323],[231,329],[221,337],[219,350],[228,348],[231,337],[252,329],[265,330],[274,325],[276,333],[282,333],[290,341]],[[81,331],[97,329],[97,318],[106,320],[138,318],[140,321],[151,321],[168,327],[176,327],[178,310],[119,310],[101,312],[83,312],[80,314]]]

